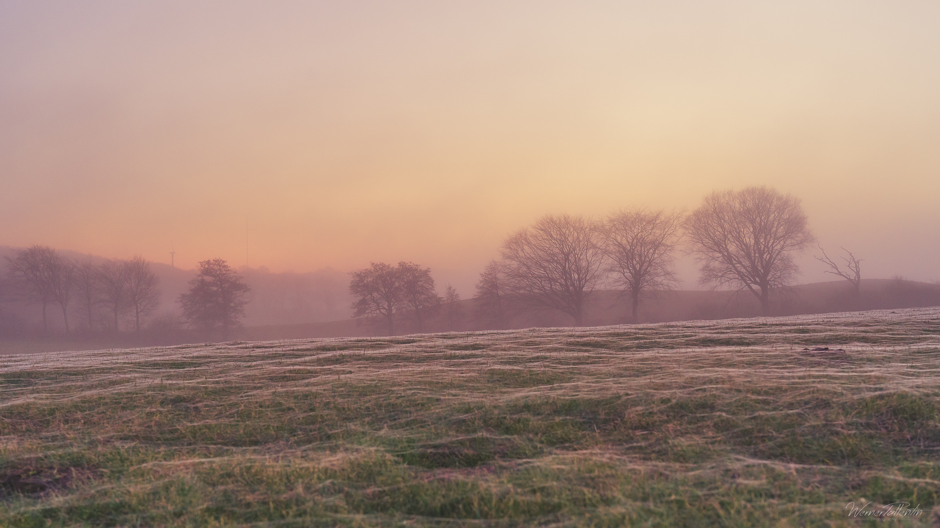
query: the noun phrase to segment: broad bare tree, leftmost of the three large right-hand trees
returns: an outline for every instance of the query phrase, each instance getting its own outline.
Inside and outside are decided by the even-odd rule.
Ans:
[[[597,228],[583,216],[547,215],[503,242],[507,289],[531,307],[584,322],[584,303],[602,278]]]

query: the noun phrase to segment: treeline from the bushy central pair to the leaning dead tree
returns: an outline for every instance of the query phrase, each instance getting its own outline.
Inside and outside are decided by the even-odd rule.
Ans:
[[[601,219],[546,215],[503,242],[500,258],[480,273],[469,315],[477,328],[510,328],[540,313],[562,313],[581,326],[588,301],[613,290],[629,300],[628,320],[639,322],[644,299],[678,286],[674,262],[681,244],[697,258],[701,284],[743,292],[761,315],[771,315],[793,306],[794,256],[815,241],[800,200],[769,187],[716,191],[689,213],[637,208]],[[850,285],[847,309],[861,309],[861,260],[844,249],[838,260],[819,250],[826,272]],[[410,262],[352,272],[350,291],[354,317],[379,319],[390,334],[397,320],[420,332],[446,306],[434,293],[431,270]],[[453,319],[437,328],[453,329]]]

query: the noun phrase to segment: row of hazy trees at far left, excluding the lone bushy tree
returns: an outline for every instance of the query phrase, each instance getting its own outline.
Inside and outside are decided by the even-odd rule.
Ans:
[[[60,308],[66,333],[71,332],[70,305],[79,309],[87,329],[102,326],[116,332],[125,318],[133,318],[133,327],[139,331],[142,318],[160,306],[160,281],[140,256],[96,264],[34,245],[8,257],[7,268],[14,294],[41,304],[45,333],[49,332],[50,305]]]

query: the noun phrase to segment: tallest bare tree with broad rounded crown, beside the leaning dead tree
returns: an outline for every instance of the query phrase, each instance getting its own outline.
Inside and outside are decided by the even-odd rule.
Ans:
[[[799,198],[769,187],[715,191],[684,223],[700,281],[747,288],[770,313],[770,291],[799,273],[793,254],[814,241]]]

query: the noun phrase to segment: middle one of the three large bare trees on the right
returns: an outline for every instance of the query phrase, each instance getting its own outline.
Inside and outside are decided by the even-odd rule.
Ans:
[[[680,238],[682,215],[662,210],[621,210],[603,222],[601,237],[607,272],[630,293],[631,314],[639,322],[640,294],[678,284],[673,252]]]

